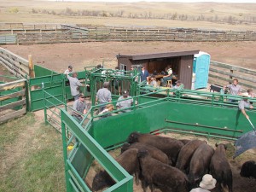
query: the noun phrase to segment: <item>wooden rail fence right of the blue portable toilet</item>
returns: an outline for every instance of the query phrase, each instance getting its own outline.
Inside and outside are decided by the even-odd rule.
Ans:
[[[232,83],[233,79],[238,79],[243,90],[247,90],[248,88],[256,90],[255,76],[255,70],[237,67],[222,62],[211,61],[209,83],[223,86]]]

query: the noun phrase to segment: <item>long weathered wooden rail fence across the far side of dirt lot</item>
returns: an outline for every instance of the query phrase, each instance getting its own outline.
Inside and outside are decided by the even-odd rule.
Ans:
[[[9,28],[4,26],[2,29],[0,25],[0,34],[8,32],[8,30],[12,34],[16,34],[16,44],[58,44],[90,41],[256,41],[255,31],[213,31],[195,28],[17,24],[17,26],[9,26]]]

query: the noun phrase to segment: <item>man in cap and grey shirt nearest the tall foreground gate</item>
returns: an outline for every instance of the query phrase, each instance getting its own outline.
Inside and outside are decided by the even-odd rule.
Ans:
[[[73,102],[72,116],[75,119],[78,119],[79,122],[82,121],[83,114],[87,113],[86,108],[87,108],[87,106],[86,106],[86,103],[84,102],[84,94],[80,93],[79,94],[79,99],[77,99]]]

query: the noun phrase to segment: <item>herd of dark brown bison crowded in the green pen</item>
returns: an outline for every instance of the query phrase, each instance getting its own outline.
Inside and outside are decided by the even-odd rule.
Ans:
[[[135,176],[136,184],[141,181],[144,192],[148,187],[151,191],[187,192],[198,187],[207,173],[217,180],[217,189],[233,191],[232,172],[224,144],[216,144],[214,150],[206,141],[177,140],[138,132],[131,133],[127,141],[116,160]],[[252,167],[252,163],[248,166]],[[248,166],[245,166],[241,176],[247,177]],[[113,184],[108,172],[101,171],[93,179],[92,190]]]

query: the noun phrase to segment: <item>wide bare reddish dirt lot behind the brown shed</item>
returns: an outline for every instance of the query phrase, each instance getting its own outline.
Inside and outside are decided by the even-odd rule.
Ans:
[[[72,64],[74,70],[84,70],[104,62],[105,67],[116,67],[116,55],[160,53],[182,50],[201,50],[211,55],[212,61],[256,69],[256,42],[90,42],[81,44],[4,45],[27,59],[32,55],[34,64],[62,73]]]

